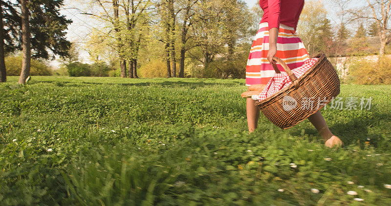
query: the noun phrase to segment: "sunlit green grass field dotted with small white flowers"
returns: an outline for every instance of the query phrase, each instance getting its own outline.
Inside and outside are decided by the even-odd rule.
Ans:
[[[370,110],[248,134],[244,80],[34,76],[0,84],[0,205],[391,205],[391,86]],[[368,138],[368,139],[367,139]]]

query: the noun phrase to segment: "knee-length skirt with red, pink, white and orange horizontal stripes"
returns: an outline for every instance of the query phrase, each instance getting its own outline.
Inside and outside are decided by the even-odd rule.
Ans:
[[[273,66],[267,61],[269,51],[269,27],[267,22],[260,23],[260,28],[254,38],[248,56],[246,66],[246,86],[252,84],[267,84],[276,74]],[[302,40],[296,35],[293,27],[280,24],[277,40],[277,53],[275,55],[282,59],[290,69],[295,69],[309,60],[308,52]],[[280,64],[277,67],[284,74]]]

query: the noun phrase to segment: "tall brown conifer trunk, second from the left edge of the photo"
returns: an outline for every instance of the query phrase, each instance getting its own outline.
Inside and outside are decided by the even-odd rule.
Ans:
[[[27,77],[30,75],[30,28],[29,28],[29,11],[27,9],[27,0],[20,0],[22,12],[22,71],[19,77],[19,84],[25,83]]]

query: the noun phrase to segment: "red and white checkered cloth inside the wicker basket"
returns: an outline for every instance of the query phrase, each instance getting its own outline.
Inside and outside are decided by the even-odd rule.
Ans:
[[[302,66],[292,69],[293,74],[299,79],[309,68],[311,68],[319,58],[312,58],[306,60]],[[275,74],[269,82],[267,82],[265,88],[263,88],[260,95],[252,95],[251,99],[262,101],[274,93],[280,91],[281,89],[287,87],[292,82],[290,81],[288,75],[283,72],[279,74]]]

